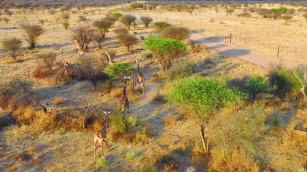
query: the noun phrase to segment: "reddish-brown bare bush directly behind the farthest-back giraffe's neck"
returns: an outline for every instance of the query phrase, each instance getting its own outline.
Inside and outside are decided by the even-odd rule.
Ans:
[[[80,26],[73,30],[72,38],[78,45],[79,54],[84,54],[88,51],[88,44],[95,38],[95,30],[87,26]]]

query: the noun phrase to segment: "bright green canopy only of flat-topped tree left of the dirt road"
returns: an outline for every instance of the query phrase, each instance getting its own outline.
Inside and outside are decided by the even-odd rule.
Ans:
[[[186,50],[186,45],[181,41],[168,38],[148,38],[143,42],[143,46],[153,52],[168,54],[174,50]]]

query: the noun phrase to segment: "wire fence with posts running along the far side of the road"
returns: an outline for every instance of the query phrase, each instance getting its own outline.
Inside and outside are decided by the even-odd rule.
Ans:
[[[142,16],[142,12],[139,12],[139,14],[135,13],[135,15]],[[187,24],[183,21],[172,20],[169,17],[165,17],[163,15],[143,13],[143,16],[151,17],[155,22],[164,21],[173,25],[188,28],[190,32],[203,35],[213,41],[221,41],[227,44],[233,44],[240,48],[262,53],[274,58],[285,60],[293,59],[296,62],[306,62],[307,60],[307,56],[304,51],[299,51],[286,45],[270,43],[268,41],[254,40],[254,38],[240,36],[228,32],[221,32],[219,30],[212,30],[205,27],[191,26],[190,24]]]

